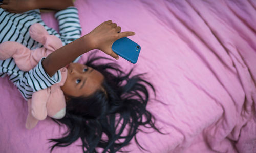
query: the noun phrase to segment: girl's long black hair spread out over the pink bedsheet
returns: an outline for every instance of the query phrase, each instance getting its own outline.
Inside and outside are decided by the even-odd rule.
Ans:
[[[89,97],[71,97],[67,101],[65,117],[55,121],[65,124],[68,131],[62,138],[50,139],[50,142],[55,142],[51,151],[56,146],[68,146],[79,138],[83,152],[97,152],[96,148],[103,148],[103,152],[122,152],[120,149],[133,137],[144,149],[136,139],[141,125],[161,133],[155,126],[154,116],[146,110],[150,100],[148,89],[155,94],[153,85],[143,78],[144,74],[131,77],[133,69],[125,73],[114,62],[95,64],[102,59],[111,60],[93,53],[85,64],[104,75],[104,90]]]

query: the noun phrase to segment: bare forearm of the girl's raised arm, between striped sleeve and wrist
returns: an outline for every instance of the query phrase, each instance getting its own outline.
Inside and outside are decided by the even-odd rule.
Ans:
[[[90,50],[92,50],[90,39],[86,35],[52,52],[42,61],[42,66],[52,77],[60,68],[65,67]]]

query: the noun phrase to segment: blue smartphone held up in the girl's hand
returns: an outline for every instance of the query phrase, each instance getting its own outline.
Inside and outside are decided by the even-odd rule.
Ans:
[[[116,40],[112,45],[112,50],[122,58],[135,64],[139,58],[140,46],[131,39],[124,37]]]

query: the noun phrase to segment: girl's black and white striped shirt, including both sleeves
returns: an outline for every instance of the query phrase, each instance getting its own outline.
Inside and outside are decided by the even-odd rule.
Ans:
[[[36,49],[42,45],[34,41],[29,35],[29,27],[39,23],[45,27],[50,35],[61,39],[63,45],[80,38],[81,26],[78,18],[78,10],[68,7],[55,14],[59,24],[59,33],[49,28],[42,21],[39,10],[31,10],[22,14],[9,13],[0,8],[0,43],[16,41],[29,49]],[[13,58],[0,60],[0,77],[9,76],[9,79],[18,88],[22,96],[28,100],[33,92],[46,89],[61,80],[61,73],[57,71],[50,77],[42,67],[41,61],[28,72],[20,70]]]

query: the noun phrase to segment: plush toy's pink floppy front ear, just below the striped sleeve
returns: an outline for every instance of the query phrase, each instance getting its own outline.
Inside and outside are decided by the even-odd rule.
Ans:
[[[34,92],[31,100],[31,114],[38,120],[44,120],[47,117],[46,103],[49,99],[50,89],[43,89]]]

